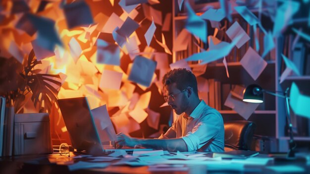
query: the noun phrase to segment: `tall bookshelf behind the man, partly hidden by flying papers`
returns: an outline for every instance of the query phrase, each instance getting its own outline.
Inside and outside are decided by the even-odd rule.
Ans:
[[[179,8],[176,0],[172,1],[172,39],[175,41],[178,33],[185,27],[185,22],[187,19],[187,16],[182,13],[179,15]],[[191,3],[192,5],[192,3]],[[219,8],[218,3],[211,3],[214,8]],[[273,6],[268,6],[268,7],[263,7],[262,11],[268,12],[270,11],[270,8],[273,10],[276,10],[278,4],[274,4]],[[250,8],[249,8],[250,9]],[[309,8],[307,8],[309,9]],[[195,9],[194,9],[195,10]],[[253,12],[256,16],[258,16],[258,8],[251,8],[251,12]],[[197,15],[203,14],[203,11],[196,11]],[[305,13],[308,14],[308,13]],[[287,33],[284,32],[283,35],[279,36],[277,39],[274,40],[275,43],[275,48],[271,50],[267,56],[264,58],[264,60],[267,61],[267,66],[263,70],[263,72],[260,74],[257,80],[254,80],[248,72],[242,67],[241,63],[239,60],[243,57],[245,54],[246,50],[249,47],[252,47],[255,49],[255,44],[253,40],[253,28],[249,28],[249,25],[241,24],[246,21],[236,12],[233,11],[232,13],[232,18],[234,19],[232,23],[237,20],[239,21],[241,27],[247,32],[247,34],[250,36],[250,41],[248,41],[244,46],[242,46],[239,50],[235,47],[234,50],[230,53],[230,57],[228,58],[229,61],[227,63],[228,66],[228,71],[230,78],[226,76],[226,69],[224,64],[220,61],[214,61],[210,62],[207,64],[207,70],[206,72],[201,75],[201,77],[209,80],[209,79],[214,79],[214,81],[219,82],[221,85],[222,84],[229,84],[231,86],[233,85],[242,85],[242,86],[247,86],[249,84],[256,83],[260,85],[263,89],[269,90],[269,91],[284,91],[287,87],[290,87],[292,82],[295,82],[300,90],[305,93],[306,95],[310,95],[310,74],[302,75],[302,76],[296,76],[296,75],[291,75],[287,77],[283,83],[280,84],[280,76],[281,73],[283,72],[283,60],[281,58],[281,54],[285,51],[283,49],[285,46],[284,40],[285,37],[287,37]],[[273,28],[273,22],[270,19],[268,15],[261,14],[261,21],[262,26],[264,29],[267,31],[272,31]],[[298,17],[294,18],[293,22],[296,23],[296,25],[300,25],[301,23],[308,23],[308,17]],[[230,27],[232,23],[229,23],[227,19],[223,19],[221,21],[221,28],[224,28],[224,35],[225,31],[227,28]],[[208,35],[211,35],[212,32],[214,32],[214,29],[210,28],[210,23],[207,21],[208,25]],[[259,27],[258,27],[259,28]],[[252,30],[252,31],[251,31]],[[259,30],[259,29],[258,29]],[[289,30],[289,29],[288,29]],[[306,31],[303,30],[303,31]],[[259,31],[260,32],[260,31]],[[221,34],[223,34],[221,33]],[[290,33],[291,34],[291,33]],[[263,51],[263,41],[261,40],[263,38],[263,35],[258,36],[259,39],[259,47],[260,51],[258,54],[261,56],[262,51]],[[200,41],[195,40],[195,37],[191,35],[192,42],[188,45],[188,49],[185,51],[179,51],[179,52],[173,52],[172,54],[172,60],[173,62],[176,62],[177,60],[180,60],[182,58],[187,58],[192,54],[199,53],[199,46],[206,49],[208,46],[206,44],[201,43]],[[227,39],[227,36],[222,36],[222,41],[226,42],[231,42],[229,39]],[[196,42],[196,44],[193,44],[193,42]],[[241,50],[241,51],[240,51]],[[243,51],[242,51],[243,50]],[[307,50],[307,49],[306,49]],[[286,55],[289,55],[290,53],[286,53]],[[310,55],[307,53],[306,55]],[[287,56],[289,58],[289,56]],[[227,57],[226,57],[227,58]],[[310,58],[308,58],[310,61]],[[197,62],[195,62],[197,63]],[[190,64],[190,63],[189,63]],[[310,62],[309,62],[310,64]],[[191,66],[191,65],[190,65]],[[209,86],[210,88],[210,86]],[[223,92],[223,89],[220,88],[220,92]],[[218,96],[217,96],[218,97]],[[223,116],[224,121],[228,120],[238,120],[238,119],[244,119],[242,116],[240,116],[236,111],[233,111],[229,108],[223,108],[223,102],[225,101],[225,97],[221,97],[221,106],[220,108],[216,108]],[[286,117],[285,117],[285,105],[284,105],[284,100],[279,99],[275,96],[271,96],[268,94],[264,94],[265,101],[264,103],[260,104],[257,108],[256,111],[250,116],[248,120],[254,121],[257,124],[257,130],[255,134],[258,136],[267,136],[270,138],[275,138],[278,140],[288,140],[287,136],[287,130],[286,130]],[[209,103],[208,103],[209,104]],[[293,118],[296,119],[296,116],[292,116]],[[297,119],[299,119],[297,117]],[[294,135],[296,140],[302,140],[302,141],[310,141],[310,121],[309,119],[304,119],[306,121],[306,124],[304,125],[303,132],[304,135],[299,135],[296,134]],[[298,120],[297,120],[298,122]],[[296,122],[295,122],[296,123]],[[277,147],[275,147],[278,151],[287,151],[287,145],[283,143],[276,143]]]

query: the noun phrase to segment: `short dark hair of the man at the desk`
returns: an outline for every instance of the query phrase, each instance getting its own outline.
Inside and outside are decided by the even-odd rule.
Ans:
[[[167,72],[162,78],[163,88],[167,85],[176,83],[176,87],[182,91],[186,87],[192,87],[195,94],[198,96],[197,79],[196,76],[185,68],[177,68]]]

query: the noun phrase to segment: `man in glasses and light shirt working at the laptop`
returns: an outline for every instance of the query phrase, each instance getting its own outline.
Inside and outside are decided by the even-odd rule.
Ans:
[[[168,151],[224,151],[224,124],[218,111],[198,97],[197,79],[185,68],[173,69],[162,79],[165,100],[179,118],[158,139],[117,134],[122,146],[140,145]]]

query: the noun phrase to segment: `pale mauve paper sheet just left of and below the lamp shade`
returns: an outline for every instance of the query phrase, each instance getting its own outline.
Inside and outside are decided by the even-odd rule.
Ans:
[[[237,98],[232,97],[231,93],[229,93],[224,105],[233,109],[244,119],[248,120],[257,109],[259,104],[243,102]]]

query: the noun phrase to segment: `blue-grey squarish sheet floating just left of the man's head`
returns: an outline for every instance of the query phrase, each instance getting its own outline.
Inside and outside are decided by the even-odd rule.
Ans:
[[[128,80],[149,87],[151,85],[152,77],[155,72],[156,64],[156,61],[137,56],[134,60]]]

